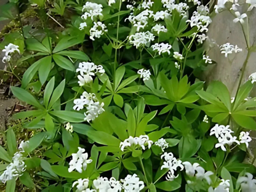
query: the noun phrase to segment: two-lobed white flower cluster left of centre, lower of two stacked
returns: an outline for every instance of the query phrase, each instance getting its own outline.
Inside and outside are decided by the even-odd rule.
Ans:
[[[86,116],[84,120],[87,122],[93,121],[105,111],[103,109],[104,103],[100,103],[95,94],[88,94],[86,91],[82,93],[80,98],[74,100],[74,104],[73,109],[77,111],[82,110],[86,106],[87,111],[84,113]]]

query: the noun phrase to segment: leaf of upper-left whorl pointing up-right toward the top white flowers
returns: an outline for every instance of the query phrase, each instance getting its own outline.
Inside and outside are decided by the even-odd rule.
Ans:
[[[53,53],[75,46],[82,41],[84,41],[84,36],[65,36],[64,38],[60,39],[57,46],[54,48]]]

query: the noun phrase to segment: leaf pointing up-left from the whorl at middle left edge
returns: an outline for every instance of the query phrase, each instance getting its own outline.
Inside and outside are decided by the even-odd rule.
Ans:
[[[20,88],[20,87],[10,87],[12,90],[12,94],[14,94],[15,97],[17,97],[19,100],[22,100],[23,102],[26,102],[30,105],[36,106],[37,108],[44,110],[44,107],[36,100],[36,98],[33,97],[33,95],[30,94],[30,92]]]

